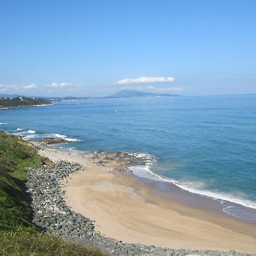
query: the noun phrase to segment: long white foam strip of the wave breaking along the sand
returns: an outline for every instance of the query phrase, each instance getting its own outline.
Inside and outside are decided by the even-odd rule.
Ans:
[[[244,207],[256,209],[255,201],[241,199],[234,195],[229,195],[229,194],[225,194],[225,193],[221,193],[221,192],[218,193],[218,192],[206,191],[206,190],[202,189],[204,187],[204,184],[202,184],[200,182],[180,182],[180,181],[168,179],[167,177],[163,177],[158,174],[155,174],[154,172],[151,171],[150,164],[146,164],[146,166],[131,166],[129,168],[131,171],[133,171],[134,175],[137,175],[139,177],[173,183],[177,187],[182,188],[191,193],[196,193],[198,195],[210,197],[213,200],[218,200],[218,201],[220,201],[221,204],[224,204],[225,201],[229,201],[229,202],[232,202],[235,204],[243,205]]]

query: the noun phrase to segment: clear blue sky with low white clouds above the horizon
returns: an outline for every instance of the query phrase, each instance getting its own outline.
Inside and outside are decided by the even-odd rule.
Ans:
[[[256,1],[0,0],[0,93],[256,93]]]

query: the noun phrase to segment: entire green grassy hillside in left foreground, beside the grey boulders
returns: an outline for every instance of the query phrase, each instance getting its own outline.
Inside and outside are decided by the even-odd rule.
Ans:
[[[43,234],[32,224],[26,168],[47,161],[22,139],[0,131],[0,255],[105,255]]]

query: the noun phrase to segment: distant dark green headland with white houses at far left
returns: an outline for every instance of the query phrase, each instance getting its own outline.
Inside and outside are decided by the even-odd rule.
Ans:
[[[43,100],[41,98],[0,98],[0,108],[21,107],[21,106],[34,106],[51,104],[51,102]]]

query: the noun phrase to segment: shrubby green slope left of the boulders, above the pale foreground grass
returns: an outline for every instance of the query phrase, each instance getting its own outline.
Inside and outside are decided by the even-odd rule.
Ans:
[[[16,230],[20,225],[32,229],[26,168],[45,160],[22,139],[0,132],[0,230]]]

